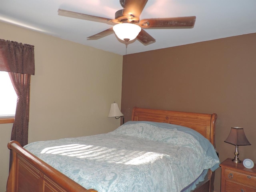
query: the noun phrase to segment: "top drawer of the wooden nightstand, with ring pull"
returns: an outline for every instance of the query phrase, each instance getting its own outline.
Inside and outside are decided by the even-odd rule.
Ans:
[[[256,188],[256,177],[253,177],[247,174],[242,174],[239,172],[234,172],[226,169],[224,171],[224,178],[226,181],[232,181],[238,184],[243,184],[246,186],[251,186]],[[256,190],[254,190],[254,192],[256,192]]]

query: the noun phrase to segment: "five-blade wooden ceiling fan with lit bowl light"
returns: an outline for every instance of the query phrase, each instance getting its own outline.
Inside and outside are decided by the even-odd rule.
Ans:
[[[140,20],[140,14],[147,2],[148,0],[120,0],[120,4],[123,7],[123,9],[118,10],[116,12],[114,19],[92,16],[88,14],[72,12],[62,9],[58,9],[58,15],[113,25],[113,27],[108,28],[107,30],[87,37],[87,40],[97,40],[115,32],[118,38],[126,42],[126,45],[129,40],[132,40],[132,38],[138,39],[144,45],[154,43],[156,40],[152,36],[150,36],[150,34],[148,34],[144,29],[170,29],[194,27],[196,16],[176,18],[150,18]],[[118,29],[116,28],[122,28],[122,26],[126,26],[127,28],[120,32],[120,34],[118,35]],[[130,35],[133,30],[131,29],[132,27],[137,28],[137,33],[134,34],[133,37],[126,37],[124,33],[128,32],[127,35]],[[129,32],[128,30],[131,30],[131,32]]]

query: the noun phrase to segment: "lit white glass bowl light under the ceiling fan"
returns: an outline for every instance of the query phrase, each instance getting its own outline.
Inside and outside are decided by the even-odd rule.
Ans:
[[[113,26],[116,36],[121,39],[134,40],[141,31],[140,26],[131,23],[120,23]]]

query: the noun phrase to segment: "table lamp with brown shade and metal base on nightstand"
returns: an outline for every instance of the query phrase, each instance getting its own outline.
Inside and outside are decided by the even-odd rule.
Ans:
[[[226,140],[224,142],[236,146],[236,150],[234,152],[235,157],[234,157],[234,159],[232,159],[232,161],[235,163],[241,162],[241,160],[239,160],[239,158],[238,158],[238,155],[239,155],[238,146],[251,145],[244,134],[244,129],[241,127],[232,127],[230,130],[230,133],[228,135],[228,138],[226,138]]]

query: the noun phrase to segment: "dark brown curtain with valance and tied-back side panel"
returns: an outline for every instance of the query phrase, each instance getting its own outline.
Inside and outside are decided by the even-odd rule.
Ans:
[[[9,72],[17,94],[11,140],[28,144],[30,76],[35,74],[34,46],[0,39],[0,71]],[[10,166],[12,153],[10,153]]]

